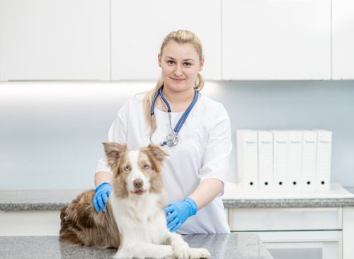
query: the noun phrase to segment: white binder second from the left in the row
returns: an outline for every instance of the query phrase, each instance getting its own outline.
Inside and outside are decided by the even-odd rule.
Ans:
[[[273,133],[258,131],[259,190],[273,191]]]

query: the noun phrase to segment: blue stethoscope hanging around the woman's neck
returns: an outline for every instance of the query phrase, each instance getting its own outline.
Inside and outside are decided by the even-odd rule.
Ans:
[[[195,103],[197,103],[198,91],[197,90],[194,91],[194,98],[193,98],[192,103],[190,103],[187,110],[185,110],[182,117],[178,120],[176,127],[174,129],[172,129],[171,107],[169,105],[169,102],[164,98],[164,95],[162,94],[163,88],[164,88],[164,86],[161,86],[161,88],[159,88],[159,91],[156,92],[154,98],[152,99],[152,109],[151,109],[152,130],[154,130],[154,124],[155,124],[155,114],[154,114],[155,101],[160,96],[161,99],[164,101],[164,103],[167,106],[167,113],[169,114],[169,122],[170,122],[170,127],[171,127],[171,133],[166,136],[166,140],[164,142],[160,143],[160,146],[167,145],[169,147],[172,147],[172,146],[176,146],[178,144],[178,132],[180,131],[181,127],[183,126],[183,123],[185,122],[185,120],[187,120],[190,110],[192,110]],[[153,134],[153,132],[152,132],[152,134]],[[152,134],[150,134],[150,142],[151,143],[153,143],[152,142]]]

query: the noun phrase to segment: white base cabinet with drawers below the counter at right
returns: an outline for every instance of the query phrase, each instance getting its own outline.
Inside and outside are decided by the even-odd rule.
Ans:
[[[231,231],[258,234],[275,259],[343,258],[340,207],[240,208],[229,209],[228,216]],[[344,257],[347,258],[350,257]]]

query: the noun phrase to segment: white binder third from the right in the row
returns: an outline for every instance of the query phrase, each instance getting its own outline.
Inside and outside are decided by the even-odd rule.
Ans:
[[[288,160],[288,189],[293,192],[301,191],[302,176],[302,132],[290,130],[289,137],[289,160]]]

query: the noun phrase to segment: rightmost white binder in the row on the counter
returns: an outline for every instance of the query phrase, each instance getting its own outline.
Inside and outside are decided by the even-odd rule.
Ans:
[[[332,132],[317,131],[316,190],[330,190]]]

